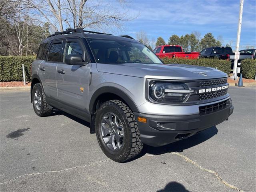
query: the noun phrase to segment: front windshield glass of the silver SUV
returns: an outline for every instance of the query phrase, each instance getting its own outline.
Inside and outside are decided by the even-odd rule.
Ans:
[[[162,63],[160,59],[141,43],[88,38],[88,42],[98,63]]]

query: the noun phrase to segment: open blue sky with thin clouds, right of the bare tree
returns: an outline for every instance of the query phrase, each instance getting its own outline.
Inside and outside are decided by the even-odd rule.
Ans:
[[[130,0],[128,15],[136,16],[125,23],[122,34],[136,37],[143,30],[149,38],[161,36],[165,41],[199,31],[201,37],[211,32],[223,37],[223,46],[236,46],[240,0]],[[256,0],[244,0],[240,50],[246,45],[256,48]],[[243,47],[244,46],[244,47]]]

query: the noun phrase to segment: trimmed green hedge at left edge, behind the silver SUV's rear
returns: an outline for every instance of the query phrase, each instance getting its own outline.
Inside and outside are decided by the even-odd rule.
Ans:
[[[30,81],[30,66],[35,59],[34,56],[0,56],[0,81],[23,81],[22,64],[26,81]]]

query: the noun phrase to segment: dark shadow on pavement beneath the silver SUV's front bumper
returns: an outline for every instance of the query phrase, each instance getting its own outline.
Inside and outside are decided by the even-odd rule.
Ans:
[[[183,150],[185,149],[191,148],[202,142],[205,142],[206,140],[212,138],[217,133],[218,133],[218,129],[216,128],[216,126],[213,126],[187,139],[180,140],[165,146],[152,147],[152,146],[144,145],[142,152],[137,158],[144,156],[146,153],[153,154],[153,155],[160,155],[160,154],[171,153],[171,152],[183,152]]]

